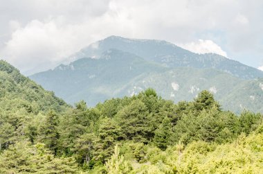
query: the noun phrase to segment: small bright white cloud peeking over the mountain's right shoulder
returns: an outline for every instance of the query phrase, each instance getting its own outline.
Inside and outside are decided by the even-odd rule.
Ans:
[[[226,51],[223,51],[221,47],[215,44],[215,42],[212,42],[212,40],[198,40],[197,42],[178,45],[194,53],[217,53],[227,57]]]

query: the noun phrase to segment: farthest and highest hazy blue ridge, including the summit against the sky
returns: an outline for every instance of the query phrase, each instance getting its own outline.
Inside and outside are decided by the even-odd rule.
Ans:
[[[263,78],[263,72],[214,53],[197,54],[162,40],[136,40],[118,36],[107,37],[89,45],[71,56],[71,60],[99,58],[108,49],[133,53],[145,60],[158,62],[165,67],[214,68],[244,79]]]

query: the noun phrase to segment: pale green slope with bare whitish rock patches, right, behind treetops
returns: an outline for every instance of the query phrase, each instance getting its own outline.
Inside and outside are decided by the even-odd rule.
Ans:
[[[141,75],[131,80],[123,94],[138,94],[153,87],[163,98],[174,102],[190,101],[204,89],[209,90],[224,110],[263,112],[263,78],[242,80],[215,69],[177,68],[163,73]]]

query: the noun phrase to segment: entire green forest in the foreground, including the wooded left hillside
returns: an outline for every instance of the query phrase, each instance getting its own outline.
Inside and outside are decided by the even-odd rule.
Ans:
[[[206,90],[72,107],[0,62],[0,173],[263,173],[262,119]]]

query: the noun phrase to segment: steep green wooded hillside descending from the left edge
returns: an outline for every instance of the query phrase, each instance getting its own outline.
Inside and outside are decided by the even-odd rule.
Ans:
[[[0,99],[0,111],[25,108],[28,112],[37,113],[62,111],[69,107],[53,92],[47,92],[3,60],[0,60]]]

